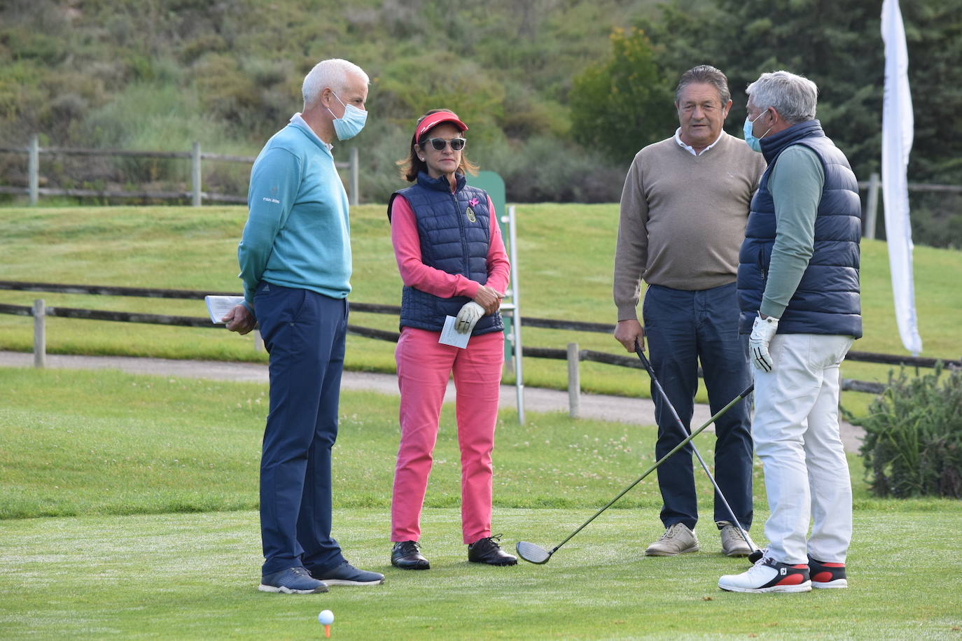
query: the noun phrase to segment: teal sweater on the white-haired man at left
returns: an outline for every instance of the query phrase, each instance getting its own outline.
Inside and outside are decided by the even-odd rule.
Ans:
[[[265,281],[332,298],[351,290],[347,194],[330,149],[295,115],[254,160],[238,245],[244,302]]]

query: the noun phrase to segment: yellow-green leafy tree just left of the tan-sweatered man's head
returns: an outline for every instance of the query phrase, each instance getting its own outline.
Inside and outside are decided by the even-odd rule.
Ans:
[[[670,135],[676,123],[671,86],[641,30],[616,29],[611,57],[574,78],[570,94],[575,140],[628,164],[639,149]]]

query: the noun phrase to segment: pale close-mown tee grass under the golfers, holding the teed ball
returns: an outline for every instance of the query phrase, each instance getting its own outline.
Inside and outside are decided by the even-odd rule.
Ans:
[[[582,510],[494,512],[506,541],[554,545]],[[919,522],[924,520],[925,527]],[[0,522],[0,636],[102,639],[957,639],[962,579],[949,550],[962,512],[860,510],[848,590],[725,593],[726,558],[642,556],[654,513],[609,510],[542,566],[468,564],[453,508],[423,519],[427,572],[389,564],[386,509],[341,508],[335,536],[384,585],[284,597],[256,590],[254,511]],[[933,575],[938,568],[937,576]]]

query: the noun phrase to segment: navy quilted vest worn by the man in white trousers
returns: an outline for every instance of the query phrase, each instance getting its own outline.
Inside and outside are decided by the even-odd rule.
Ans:
[[[826,137],[818,120],[797,123],[762,139],[769,167],[751,199],[745,241],[738,257],[739,331],[751,333],[772,259],[775,214],[769,176],[778,156],[791,145],[814,151],[825,172],[822,200],[815,218],[815,251],[795,295],[778,321],[778,333],[862,335],[859,304],[861,205],[855,174],[845,154]]]

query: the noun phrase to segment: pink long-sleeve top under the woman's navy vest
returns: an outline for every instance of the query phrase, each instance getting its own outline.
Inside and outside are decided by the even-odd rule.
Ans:
[[[508,254],[504,251],[501,230],[497,226],[494,205],[488,198],[488,211],[491,212],[491,242],[488,245],[488,283],[500,293],[508,288],[508,275],[511,269]],[[391,241],[394,245],[394,258],[401,281],[420,291],[440,298],[477,296],[479,283],[461,274],[447,272],[425,265],[421,260],[418,221],[411,204],[403,196],[394,198],[391,203]]]

